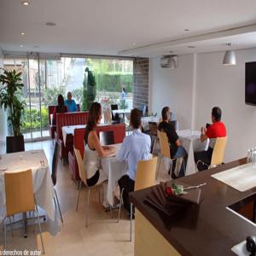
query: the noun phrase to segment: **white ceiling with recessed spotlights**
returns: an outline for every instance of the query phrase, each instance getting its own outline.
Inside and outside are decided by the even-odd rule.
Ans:
[[[256,47],[255,0],[28,1],[0,0],[3,50],[157,56],[224,50],[230,42]]]

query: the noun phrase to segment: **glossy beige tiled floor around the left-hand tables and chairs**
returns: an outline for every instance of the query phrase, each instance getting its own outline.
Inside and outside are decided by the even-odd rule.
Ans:
[[[53,145],[47,141],[44,143],[27,143],[26,150],[44,148],[49,162],[53,154]],[[91,193],[89,226],[85,228],[86,189],[82,189],[80,196],[79,212],[75,211],[78,190],[71,180],[67,163],[61,160],[58,166],[57,193],[59,196],[64,224],[58,224],[47,220],[42,222],[45,255],[133,255],[133,241],[130,237],[130,220],[122,212],[119,223],[116,221],[117,211],[105,212],[98,203],[98,194],[94,190]],[[56,213],[58,214],[58,212]],[[41,249],[38,230],[33,233],[32,224],[28,227],[28,237],[22,236],[22,224],[15,224],[14,236],[8,232],[8,250],[37,250]],[[133,226],[134,230],[134,226]],[[2,238],[2,237],[1,237]],[[2,249],[3,239],[0,241]],[[1,254],[1,253],[0,253]]]

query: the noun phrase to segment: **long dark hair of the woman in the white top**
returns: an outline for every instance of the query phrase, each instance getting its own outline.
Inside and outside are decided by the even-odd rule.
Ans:
[[[100,115],[102,114],[102,106],[99,102],[93,102],[90,105],[89,114],[88,114],[88,120],[87,125],[85,128],[85,134],[84,134],[84,141],[85,144],[88,143],[88,136],[90,131],[96,128],[97,121],[100,118]]]

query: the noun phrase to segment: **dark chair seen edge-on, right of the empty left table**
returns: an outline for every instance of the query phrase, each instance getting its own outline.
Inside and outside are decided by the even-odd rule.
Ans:
[[[60,154],[60,145],[59,145],[59,143],[55,143],[55,151],[54,151],[54,155],[53,155],[53,159],[52,159],[52,166],[51,166],[51,180],[54,185],[54,189],[55,189],[55,185],[57,183],[57,170],[58,170],[59,154]],[[56,189],[55,189],[54,201],[55,201],[55,207],[56,207],[56,202],[57,202],[58,210],[59,210],[60,216],[61,216],[61,222],[63,223],[61,207],[60,207]]]

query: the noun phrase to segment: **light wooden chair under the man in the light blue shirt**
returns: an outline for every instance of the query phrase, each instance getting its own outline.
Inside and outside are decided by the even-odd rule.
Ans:
[[[156,177],[156,165],[157,165],[157,157],[154,157],[151,160],[140,160],[137,163],[137,174],[136,174],[136,180],[134,184],[134,191],[139,189],[146,189],[148,187],[154,186],[155,177]],[[118,222],[120,219],[121,206],[123,204],[123,192],[124,192],[124,189],[122,189],[121,195],[120,195]],[[131,204],[130,216],[131,216],[130,218],[130,241],[131,241],[132,204]]]

